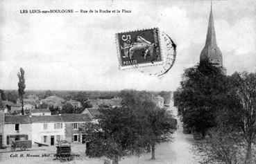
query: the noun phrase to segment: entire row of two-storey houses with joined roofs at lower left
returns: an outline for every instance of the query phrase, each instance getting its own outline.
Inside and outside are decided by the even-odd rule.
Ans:
[[[87,113],[8,116],[0,112],[0,147],[10,146],[12,140],[32,140],[33,145],[55,145],[58,140],[83,143],[82,127],[92,122]]]

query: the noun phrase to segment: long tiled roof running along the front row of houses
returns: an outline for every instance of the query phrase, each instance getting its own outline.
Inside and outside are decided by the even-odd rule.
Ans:
[[[85,122],[91,119],[87,114],[62,114],[51,116],[5,116],[4,120],[8,124],[28,124],[31,122]]]

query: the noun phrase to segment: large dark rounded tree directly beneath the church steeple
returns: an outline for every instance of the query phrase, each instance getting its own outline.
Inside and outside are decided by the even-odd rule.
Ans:
[[[207,129],[216,126],[216,112],[225,106],[225,93],[229,89],[228,78],[210,63],[186,69],[174,94],[174,105],[182,116],[183,126],[204,138]]]

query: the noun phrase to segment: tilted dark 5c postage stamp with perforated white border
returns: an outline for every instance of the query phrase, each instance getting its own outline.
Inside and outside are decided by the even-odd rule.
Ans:
[[[119,69],[162,65],[158,28],[116,34]]]

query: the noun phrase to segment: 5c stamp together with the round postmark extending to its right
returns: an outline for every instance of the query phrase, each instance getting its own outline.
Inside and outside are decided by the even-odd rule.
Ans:
[[[158,28],[117,33],[119,69],[153,76],[167,73],[176,60],[176,44]]]

